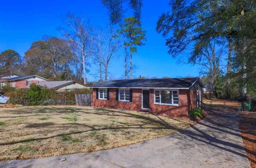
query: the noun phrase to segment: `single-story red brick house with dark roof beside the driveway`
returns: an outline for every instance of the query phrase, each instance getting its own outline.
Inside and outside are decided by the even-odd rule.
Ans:
[[[200,78],[110,80],[90,86],[92,106],[188,119],[188,112],[202,102]]]

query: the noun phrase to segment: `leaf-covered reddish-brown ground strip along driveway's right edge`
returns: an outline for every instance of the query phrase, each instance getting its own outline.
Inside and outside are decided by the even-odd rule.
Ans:
[[[246,154],[251,168],[256,168],[256,112],[240,112],[239,118]]]

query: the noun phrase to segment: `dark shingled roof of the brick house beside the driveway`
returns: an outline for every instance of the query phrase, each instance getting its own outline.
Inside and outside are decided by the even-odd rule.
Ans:
[[[90,88],[180,88],[189,89],[196,81],[202,87],[204,84],[199,77],[194,78],[162,78],[162,79],[131,79],[109,80],[94,84]]]

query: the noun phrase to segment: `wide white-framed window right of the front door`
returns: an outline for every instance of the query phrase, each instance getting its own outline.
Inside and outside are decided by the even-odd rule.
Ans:
[[[154,104],[179,105],[178,90],[155,90]]]

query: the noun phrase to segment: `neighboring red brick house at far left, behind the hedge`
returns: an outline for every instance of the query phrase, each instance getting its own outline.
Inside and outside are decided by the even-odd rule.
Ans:
[[[49,80],[37,75],[16,76],[13,78],[6,78],[6,79],[0,80],[1,87],[8,85],[15,88],[26,88],[26,87],[29,87],[30,84],[38,84],[46,81],[49,81]]]

